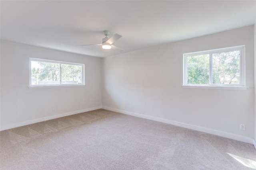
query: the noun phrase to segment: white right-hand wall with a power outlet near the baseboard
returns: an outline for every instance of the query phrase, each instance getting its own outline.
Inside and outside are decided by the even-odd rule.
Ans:
[[[104,58],[102,106],[252,143],[253,34],[248,26]],[[183,53],[238,45],[246,45],[248,90],[182,88]]]

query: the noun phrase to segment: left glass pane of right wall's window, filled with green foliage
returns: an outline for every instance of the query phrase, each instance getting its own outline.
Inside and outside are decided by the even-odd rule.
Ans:
[[[209,84],[209,55],[187,57],[188,84]]]

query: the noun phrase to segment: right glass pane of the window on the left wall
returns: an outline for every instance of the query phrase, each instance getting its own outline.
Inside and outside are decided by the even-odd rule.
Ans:
[[[82,66],[61,64],[61,84],[82,84]]]

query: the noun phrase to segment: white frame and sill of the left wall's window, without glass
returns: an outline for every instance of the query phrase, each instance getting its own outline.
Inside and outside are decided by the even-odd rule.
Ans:
[[[31,61],[60,64],[60,84],[32,85],[31,84]],[[61,84],[61,64],[70,64],[70,65],[82,66],[82,80],[81,80],[81,84]],[[76,86],[80,86],[80,87],[81,86],[85,86],[84,64],[70,63],[70,62],[64,62],[64,61],[46,60],[46,59],[29,58],[29,86],[28,86],[28,88],[52,88],[52,87],[76,87]]]

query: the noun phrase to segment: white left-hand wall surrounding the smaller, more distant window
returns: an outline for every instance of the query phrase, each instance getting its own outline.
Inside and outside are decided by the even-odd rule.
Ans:
[[[1,130],[101,108],[100,58],[3,40],[0,54]],[[28,89],[30,57],[85,64],[86,86]]]

